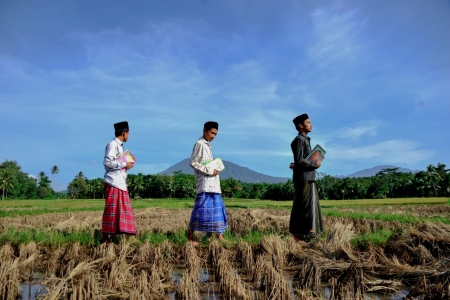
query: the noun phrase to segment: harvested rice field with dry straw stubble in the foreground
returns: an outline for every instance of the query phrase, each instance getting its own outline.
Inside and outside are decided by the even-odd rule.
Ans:
[[[229,208],[228,241],[193,247],[190,212],[136,209],[110,244],[101,211],[2,217],[0,299],[450,299],[448,204],[325,209],[307,245],[287,208]]]

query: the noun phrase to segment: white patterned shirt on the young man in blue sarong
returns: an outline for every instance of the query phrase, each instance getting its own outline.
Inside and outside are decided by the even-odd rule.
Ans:
[[[201,137],[192,149],[191,161],[189,164],[195,171],[197,194],[202,192],[222,193],[220,189],[219,174],[212,176],[212,174],[214,174],[214,169],[202,164],[202,162],[212,159],[211,145],[207,140]]]

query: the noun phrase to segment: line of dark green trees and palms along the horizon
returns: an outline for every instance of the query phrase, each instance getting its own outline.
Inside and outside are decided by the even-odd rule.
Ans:
[[[399,168],[386,168],[378,174],[361,178],[339,178],[317,173],[317,188],[320,199],[377,199],[411,197],[450,196],[450,170],[438,163],[428,165],[417,173],[403,173]],[[55,176],[59,168],[50,169]],[[21,171],[15,161],[5,161],[0,165],[0,188],[2,199],[102,199],[103,178],[88,179],[79,172],[69,183],[67,191],[56,193],[52,181],[40,172],[30,177]],[[195,177],[181,171],[172,175],[129,174],[128,190],[132,198],[195,198]],[[283,183],[245,183],[228,178],[221,180],[222,195],[225,198],[292,200],[294,184],[291,180]]]

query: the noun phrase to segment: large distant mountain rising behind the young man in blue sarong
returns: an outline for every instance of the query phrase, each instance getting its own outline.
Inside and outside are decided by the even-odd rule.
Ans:
[[[234,178],[236,180],[246,182],[246,183],[256,183],[256,182],[264,182],[264,183],[279,183],[286,182],[290,178],[283,177],[273,177],[269,175],[265,175],[262,173],[255,172],[250,170],[249,168],[239,166],[230,161],[223,161],[225,165],[225,170],[220,172],[221,179]],[[171,166],[165,171],[162,171],[158,174],[170,175],[175,171],[182,171],[185,174],[194,174],[194,169],[189,166],[189,158],[183,159],[179,163]]]

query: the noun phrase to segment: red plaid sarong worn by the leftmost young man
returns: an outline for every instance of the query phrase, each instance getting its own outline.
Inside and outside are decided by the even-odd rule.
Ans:
[[[105,190],[105,210],[102,218],[103,234],[136,234],[133,209],[131,208],[128,191],[122,191],[107,183]]]

